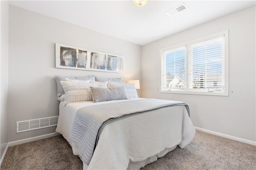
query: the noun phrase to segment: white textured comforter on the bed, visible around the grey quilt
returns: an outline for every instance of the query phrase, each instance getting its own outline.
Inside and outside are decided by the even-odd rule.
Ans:
[[[69,141],[76,111],[85,106],[121,101],[126,100],[77,102],[65,107],[60,102],[56,132],[70,143],[75,155],[80,155],[78,146]],[[84,169],[139,169],[175,149],[176,145],[184,148],[194,134],[185,106],[164,107],[113,121],[102,130],[90,164],[84,164]]]

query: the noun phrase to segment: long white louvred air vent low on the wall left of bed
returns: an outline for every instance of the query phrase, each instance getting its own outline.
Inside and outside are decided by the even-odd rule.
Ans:
[[[57,126],[58,116],[16,122],[16,133]]]

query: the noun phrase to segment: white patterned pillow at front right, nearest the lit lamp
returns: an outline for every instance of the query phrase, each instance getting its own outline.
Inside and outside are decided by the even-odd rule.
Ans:
[[[138,98],[134,83],[108,82],[108,88],[123,86],[126,90],[127,98]]]

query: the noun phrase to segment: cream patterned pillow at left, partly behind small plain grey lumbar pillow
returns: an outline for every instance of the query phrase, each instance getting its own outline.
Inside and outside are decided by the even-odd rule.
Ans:
[[[107,88],[108,82],[101,83],[76,83],[76,82],[66,82],[60,81],[65,91],[65,99],[63,106],[73,102],[85,102],[92,101],[92,92],[90,86],[92,87],[102,87]]]

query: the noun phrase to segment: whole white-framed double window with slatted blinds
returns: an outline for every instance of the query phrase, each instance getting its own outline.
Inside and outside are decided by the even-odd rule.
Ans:
[[[228,96],[228,31],[160,49],[160,92]]]

